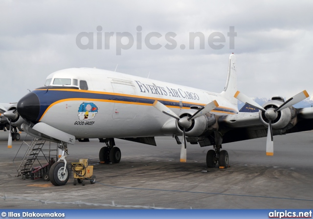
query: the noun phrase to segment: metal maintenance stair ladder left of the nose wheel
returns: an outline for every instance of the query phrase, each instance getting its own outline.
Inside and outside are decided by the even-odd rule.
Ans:
[[[49,171],[50,167],[47,164],[50,164],[51,158],[54,157],[55,159],[57,159],[58,157],[58,148],[56,147],[56,149],[51,149],[51,142],[49,142],[48,146],[45,146],[46,141],[44,139],[34,137],[30,143],[27,143],[27,136],[28,135],[26,135],[26,137],[24,138],[22,145],[20,146],[17,154],[13,159],[13,163],[18,171],[18,174],[16,176],[22,176],[23,179],[29,178],[32,171],[36,169],[38,170],[45,168],[44,171]],[[18,156],[22,154],[22,147],[23,149],[26,147],[26,151],[22,156],[22,160],[20,160],[21,163],[18,165],[15,162],[20,162]],[[39,166],[32,168],[34,165]],[[40,177],[42,177],[42,175]]]

